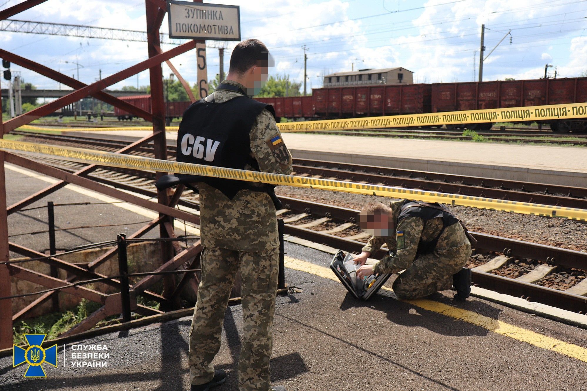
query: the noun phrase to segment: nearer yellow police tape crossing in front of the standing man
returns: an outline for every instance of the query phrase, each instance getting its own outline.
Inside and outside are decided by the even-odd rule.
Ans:
[[[145,158],[135,155],[115,154],[113,152],[95,151],[92,149],[55,147],[52,145],[33,144],[31,142],[4,139],[0,139],[0,149],[4,149],[5,151],[32,152],[33,154],[62,157],[70,161],[119,168],[214,176],[216,178],[239,179],[241,181],[270,183],[272,185],[340,191],[388,198],[405,198],[424,202],[438,202],[447,205],[471,206],[480,209],[502,210],[504,212],[524,213],[527,215],[562,217],[565,219],[587,221],[586,209],[564,208],[562,206],[429,192],[391,186],[368,185],[355,182],[332,181],[330,179],[306,178],[304,176],[272,174],[268,172],[246,171],[242,169],[212,167],[200,164],[188,164]]]

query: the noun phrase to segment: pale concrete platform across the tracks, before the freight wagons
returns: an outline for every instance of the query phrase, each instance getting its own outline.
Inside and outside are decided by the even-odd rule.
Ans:
[[[143,137],[147,131],[63,132],[92,137]],[[494,142],[284,133],[295,158],[579,186],[586,183],[587,148]],[[176,132],[167,132],[176,140]]]

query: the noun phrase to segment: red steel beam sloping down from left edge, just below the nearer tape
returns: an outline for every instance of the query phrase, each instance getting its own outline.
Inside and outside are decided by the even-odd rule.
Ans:
[[[134,205],[139,205],[143,208],[163,213],[164,215],[177,217],[178,219],[198,224],[197,222],[199,221],[199,219],[194,219],[194,216],[191,215],[191,213],[183,212],[182,210],[170,208],[169,206],[163,205],[161,203],[137,197],[127,192],[111,188],[110,186],[102,185],[102,183],[97,183],[95,181],[92,181],[92,179],[83,178],[79,175],[73,175],[69,172],[60,170],[59,168],[42,164],[31,159],[23,158],[19,155],[9,154],[8,152],[5,153],[6,161],[12,164],[16,164],[28,169],[33,169],[34,171],[40,172],[41,174],[53,176],[53,178],[61,179],[62,181],[73,183],[74,185],[82,186],[83,188],[90,189],[95,192],[99,192],[122,201],[130,202]]]

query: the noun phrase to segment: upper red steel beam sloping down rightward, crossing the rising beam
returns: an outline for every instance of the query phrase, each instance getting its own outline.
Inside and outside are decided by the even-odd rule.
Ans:
[[[49,77],[49,79],[59,81],[59,83],[65,84],[66,86],[72,87],[73,89],[81,89],[87,86],[87,84],[84,84],[81,81],[72,79],[71,77],[59,73],[54,69],[50,69],[49,67],[43,66],[29,59],[25,59],[24,57],[17,56],[14,53],[7,52],[4,49],[0,49],[0,58],[9,60],[38,74],[42,74],[43,76]],[[119,98],[113,97],[104,91],[97,91],[96,93],[92,94],[92,96],[103,102],[112,104],[112,106],[119,107],[131,114],[144,118],[146,121],[151,122],[153,120],[153,115],[149,113],[149,111],[145,111],[139,107],[134,106],[134,104],[130,104]]]

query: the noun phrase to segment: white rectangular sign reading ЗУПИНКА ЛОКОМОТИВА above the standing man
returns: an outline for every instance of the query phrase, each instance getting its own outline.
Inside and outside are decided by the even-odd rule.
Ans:
[[[170,38],[241,40],[238,5],[167,2]]]

